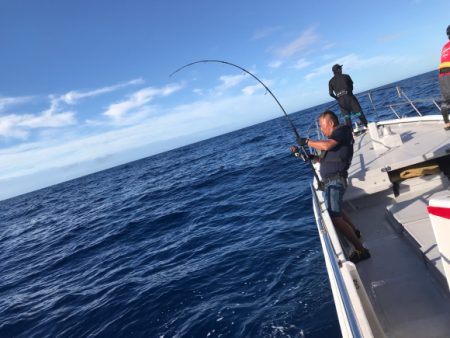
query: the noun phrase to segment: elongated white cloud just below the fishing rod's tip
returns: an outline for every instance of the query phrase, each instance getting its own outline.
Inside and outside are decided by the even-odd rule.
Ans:
[[[126,115],[147,110],[146,105],[156,96],[168,96],[181,89],[181,85],[168,85],[163,88],[147,87],[141,89],[126,100],[111,104],[103,115],[115,121],[120,121]]]

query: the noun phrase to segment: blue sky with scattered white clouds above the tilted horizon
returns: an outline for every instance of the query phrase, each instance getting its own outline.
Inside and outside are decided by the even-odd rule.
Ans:
[[[0,199],[436,69],[448,0],[0,0]],[[274,131],[276,132],[276,131]]]

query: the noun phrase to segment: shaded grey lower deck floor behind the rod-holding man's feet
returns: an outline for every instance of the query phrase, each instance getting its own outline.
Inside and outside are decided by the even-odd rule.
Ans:
[[[350,216],[372,254],[357,269],[382,327],[390,337],[448,337],[448,292],[406,233],[385,217],[387,205],[376,199]]]

